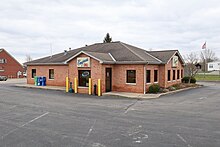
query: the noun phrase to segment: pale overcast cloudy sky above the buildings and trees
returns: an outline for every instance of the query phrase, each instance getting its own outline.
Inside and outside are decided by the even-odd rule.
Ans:
[[[20,63],[103,42],[146,50],[201,46],[220,57],[219,0],[0,0],[0,48]]]

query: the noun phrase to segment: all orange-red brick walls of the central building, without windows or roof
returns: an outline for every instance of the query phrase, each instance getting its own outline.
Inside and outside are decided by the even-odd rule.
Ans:
[[[78,57],[88,57],[85,54],[81,54]],[[37,69],[37,76],[46,76],[47,77],[47,85],[55,85],[55,86],[65,86],[65,77],[69,75],[70,82],[73,83],[74,89],[74,78],[78,80],[78,70],[90,70],[91,78],[92,78],[92,93],[94,91],[93,85],[98,82],[98,79],[101,79],[102,82],[102,92],[105,92],[105,72],[106,68],[112,68],[112,91],[119,92],[136,92],[136,93],[144,93],[144,85],[146,85],[146,91],[148,91],[149,86],[154,84],[154,70],[158,70],[158,84],[161,87],[169,87],[173,84],[180,83],[181,78],[175,81],[167,81],[167,71],[171,70],[171,79],[172,79],[172,70],[183,70],[183,66],[179,62],[177,68],[171,67],[171,61],[167,65],[105,65],[100,64],[99,61],[90,58],[91,67],[80,68],[77,67],[77,57],[69,62],[69,66],[28,66],[28,83],[34,83],[34,80],[31,79],[31,69]],[[151,83],[144,83],[144,66],[146,70],[151,70]],[[55,79],[48,80],[49,69],[54,69]],[[136,83],[128,84],[126,83],[126,72],[127,70],[136,70]],[[177,71],[176,71],[177,78]],[[88,87],[78,87],[79,93],[88,93]]]

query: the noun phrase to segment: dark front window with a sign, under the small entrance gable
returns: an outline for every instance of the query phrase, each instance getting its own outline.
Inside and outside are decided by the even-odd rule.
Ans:
[[[89,87],[89,78],[91,77],[90,70],[79,70],[79,86]]]

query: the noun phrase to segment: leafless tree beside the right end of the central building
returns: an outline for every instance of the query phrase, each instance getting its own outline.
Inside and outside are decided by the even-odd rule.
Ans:
[[[184,60],[186,62],[186,70],[189,76],[189,83],[191,79],[195,77],[196,73],[198,72],[198,68],[195,66],[199,63],[199,57],[196,53],[190,53],[184,56]]]

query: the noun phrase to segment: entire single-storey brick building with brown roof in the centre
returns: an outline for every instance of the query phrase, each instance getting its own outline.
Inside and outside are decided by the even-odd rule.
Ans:
[[[169,87],[181,82],[184,60],[178,50],[146,51],[122,43],[97,43],[64,51],[27,64],[27,83],[34,76],[45,76],[47,85],[65,86],[65,78],[74,83],[78,92],[88,93],[101,79],[102,92],[120,91],[146,93],[151,84]]]

